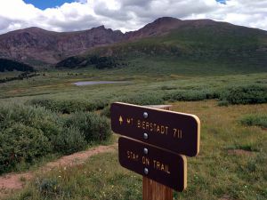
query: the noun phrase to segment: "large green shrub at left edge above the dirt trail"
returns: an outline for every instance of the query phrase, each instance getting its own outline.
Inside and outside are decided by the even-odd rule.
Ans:
[[[62,127],[61,118],[45,108],[2,104],[0,173],[11,171],[16,164],[30,164],[53,153],[52,140],[61,134]]]

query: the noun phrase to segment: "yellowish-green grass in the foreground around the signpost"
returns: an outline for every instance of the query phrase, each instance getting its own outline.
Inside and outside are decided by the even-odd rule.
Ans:
[[[200,153],[188,158],[188,188],[174,193],[175,200],[267,198],[266,131],[237,123],[250,113],[264,115],[267,104],[218,107],[202,100],[174,102],[172,109],[201,119]],[[142,199],[142,176],[121,167],[117,152],[101,154],[76,167],[40,172],[7,199]]]

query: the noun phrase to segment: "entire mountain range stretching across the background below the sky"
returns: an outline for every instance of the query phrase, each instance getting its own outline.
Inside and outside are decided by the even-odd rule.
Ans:
[[[101,26],[68,33],[26,28],[0,36],[0,57],[38,65],[125,67],[131,60],[148,56],[265,70],[267,31],[214,20],[164,17],[125,34]]]

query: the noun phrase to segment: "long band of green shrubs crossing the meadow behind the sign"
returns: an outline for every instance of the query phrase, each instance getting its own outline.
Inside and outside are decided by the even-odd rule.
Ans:
[[[145,88],[143,88],[145,89]],[[189,86],[177,87],[163,85],[157,91],[145,92],[135,91],[120,94],[112,93],[102,96],[101,100],[85,100],[85,96],[80,98],[62,100],[61,98],[52,99],[33,99],[29,100],[30,105],[42,106],[44,108],[58,111],[63,114],[75,111],[93,111],[103,109],[101,114],[109,116],[109,104],[114,101],[122,101],[137,105],[158,105],[164,101],[196,101],[196,100],[219,100],[220,106],[231,104],[259,104],[267,102],[267,86],[262,84],[248,84],[245,86],[227,85],[216,87],[212,86]]]

